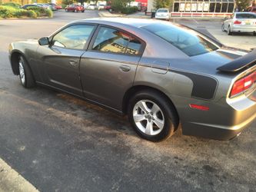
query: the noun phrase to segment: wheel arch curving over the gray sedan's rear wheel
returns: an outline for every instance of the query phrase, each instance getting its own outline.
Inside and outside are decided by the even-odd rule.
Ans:
[[[163,98],[165,98],[166,101],[168,101],[168,103],[170,104],[170,106],[175,110],[175,118],[177,118],[177,122],[179,122],[179,116],[178,116],[178,111],[175,107],[175,104],[173,103],[173,101],[171,101],[171,98],[168,97],[167,94],[165,94],[163,91],[160,91],[157,88],[152,88],[150,86],[147,85],[135,85],[131,88],[129,88],[126,92],[125,92],[125,96],[123,98],[122,101],[122,112],[124,114],[128,113],[128,102],[131,99],[131,97],[133,95],[135,95],[138,91],[155,91],[156,93],[160,94]]]

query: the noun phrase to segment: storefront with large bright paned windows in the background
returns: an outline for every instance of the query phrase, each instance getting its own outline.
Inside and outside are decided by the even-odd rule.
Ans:
[[[148,12],[153,8],[148,0]],[[234,12],[234,0],[174,0],[171,17],[226,17]]]

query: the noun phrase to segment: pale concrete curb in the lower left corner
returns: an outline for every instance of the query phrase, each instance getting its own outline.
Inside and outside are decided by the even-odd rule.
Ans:
[[[8,166],[2,158],[0,158],[0,191],[38,192],[28,180]]]

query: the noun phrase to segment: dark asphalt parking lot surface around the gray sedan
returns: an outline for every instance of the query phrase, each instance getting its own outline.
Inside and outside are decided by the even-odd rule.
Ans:
[[[0,159],[39,191],[256,191],[255,121],[231,141],[179,129],[168,141],[151,143],[127,117],[58,91],[22,87],[8,61],[9,43],[93,17],[98,11],[0,20]],[[207,26],[225,45],[256,47],[256,37],[230,37],[220,22],[181,22]]]

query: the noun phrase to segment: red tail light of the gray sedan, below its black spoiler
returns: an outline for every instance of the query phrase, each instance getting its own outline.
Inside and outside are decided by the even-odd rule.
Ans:
[[[235,95],[244,93],[244,91],[247,91],[249,88],[251,88],[251,86],[255,82],[256,82],[256,71],[254,71],[251,74],[248,74],[248,76],[245,76],[244,78],[241,78],[238,81],[235,81],[231,89],[230,97],[232,98]]]

